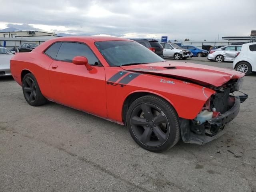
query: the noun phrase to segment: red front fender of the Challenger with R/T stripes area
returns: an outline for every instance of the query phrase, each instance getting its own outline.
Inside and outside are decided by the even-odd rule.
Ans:
[[[119,122],[122,122],[122,107],[126,98],[135,92],[146,92],[164,98],[175,108],[178,116],[185,119],[194,119],[206,100],[215,93],[209,88],[190,82],[143,73],[137,74],[127,84],[121,83],[125,76],[115,82],[108,82],[118,71],[120,72],[106,68],[106,101],[108,118]],[[134,74],[125,72],[126,76]]]

